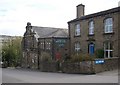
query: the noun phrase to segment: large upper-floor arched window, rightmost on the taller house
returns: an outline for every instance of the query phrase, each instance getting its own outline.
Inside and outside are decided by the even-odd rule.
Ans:
[[[113,32],[113,20],[112,20],[112,18],[105,19],[104,31],[105,31],[105,33],[112,33]]]

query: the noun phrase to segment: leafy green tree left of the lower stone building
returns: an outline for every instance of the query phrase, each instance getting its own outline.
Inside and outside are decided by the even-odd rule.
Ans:
[[[2,62],[7,66],[18,66],[22,56],[22,37],[14,37],[2,45]]]

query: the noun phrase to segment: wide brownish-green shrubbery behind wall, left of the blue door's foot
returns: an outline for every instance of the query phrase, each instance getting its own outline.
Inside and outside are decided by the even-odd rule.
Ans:
[[[71,62],[81,62],[81,61],[92,61],[94,60],[94,56],[90,56],[89,54],[75,54],[71,56]]]

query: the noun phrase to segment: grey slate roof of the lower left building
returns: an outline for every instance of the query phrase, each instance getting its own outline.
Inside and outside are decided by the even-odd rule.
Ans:
[[[68,29],[32,26],[37,38],[68,37]]]

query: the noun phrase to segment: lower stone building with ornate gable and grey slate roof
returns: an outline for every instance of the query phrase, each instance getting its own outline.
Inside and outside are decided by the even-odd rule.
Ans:
[[[69,52],[68,40],[67,29],[31,26],[28,22],[22,40],[22,67],[39,68],[43,52],[51,55],[52,60],[56,60],[57,52],[64,58]]]

